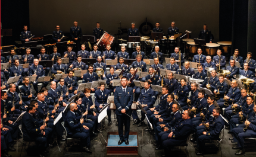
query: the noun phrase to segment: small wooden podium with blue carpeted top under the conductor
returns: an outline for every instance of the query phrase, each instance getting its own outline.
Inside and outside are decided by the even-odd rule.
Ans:
[[[118,132],[108,132],[107,155],[138,155],[139,140],[137,132],[129,133],[129,145],[118,145]]]

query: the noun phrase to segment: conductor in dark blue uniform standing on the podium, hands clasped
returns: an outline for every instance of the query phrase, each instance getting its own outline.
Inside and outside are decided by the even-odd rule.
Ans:
[[[121,86],[115,88],[114,102],[117,107],[115,114],[117,114],[118,134],[120,137],[118,145],[121,145],[123,142],[129,145],[128,139],[130,132],[130,116],[132,114],[133,90],[127,86],[126,76],[121,78]],[[124,134],[123,123],[125,125]]]

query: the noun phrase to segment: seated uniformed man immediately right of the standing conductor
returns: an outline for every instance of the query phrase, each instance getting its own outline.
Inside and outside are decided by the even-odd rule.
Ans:
[[[141,94],[139,95],[138,102],[141,103],[145,111],[148,111],[149,108],[154,107],[155,100],[156,100],[155,91],[153,91],[153,89],[150,88],[150,82],[145,81],[144,89],[141,90]],[[137,105],[138,105],[138,102],[136,102]],[[138,126],[143,125],[144,118],[145,118],[145,113],[141,111],[141,123],[139,123]]]

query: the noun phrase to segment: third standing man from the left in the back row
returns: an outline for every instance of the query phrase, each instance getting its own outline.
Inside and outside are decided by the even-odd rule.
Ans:
[[[70,36],[72,40],[76,43],[77,52],[79,51],[80,41],[82,37],[82,29],[81,27],[77,26],[77,21],[74,21],[74,26],[70,28]]]

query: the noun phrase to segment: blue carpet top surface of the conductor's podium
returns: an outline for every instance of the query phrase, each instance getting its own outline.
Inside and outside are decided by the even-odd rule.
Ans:
[[[138,146],[137,135],[129,135],[129,145],[126,145],[124,142],[118,145],[118,141],[118,134],[110,134],[110,136],[108,136],[107,146]]]

